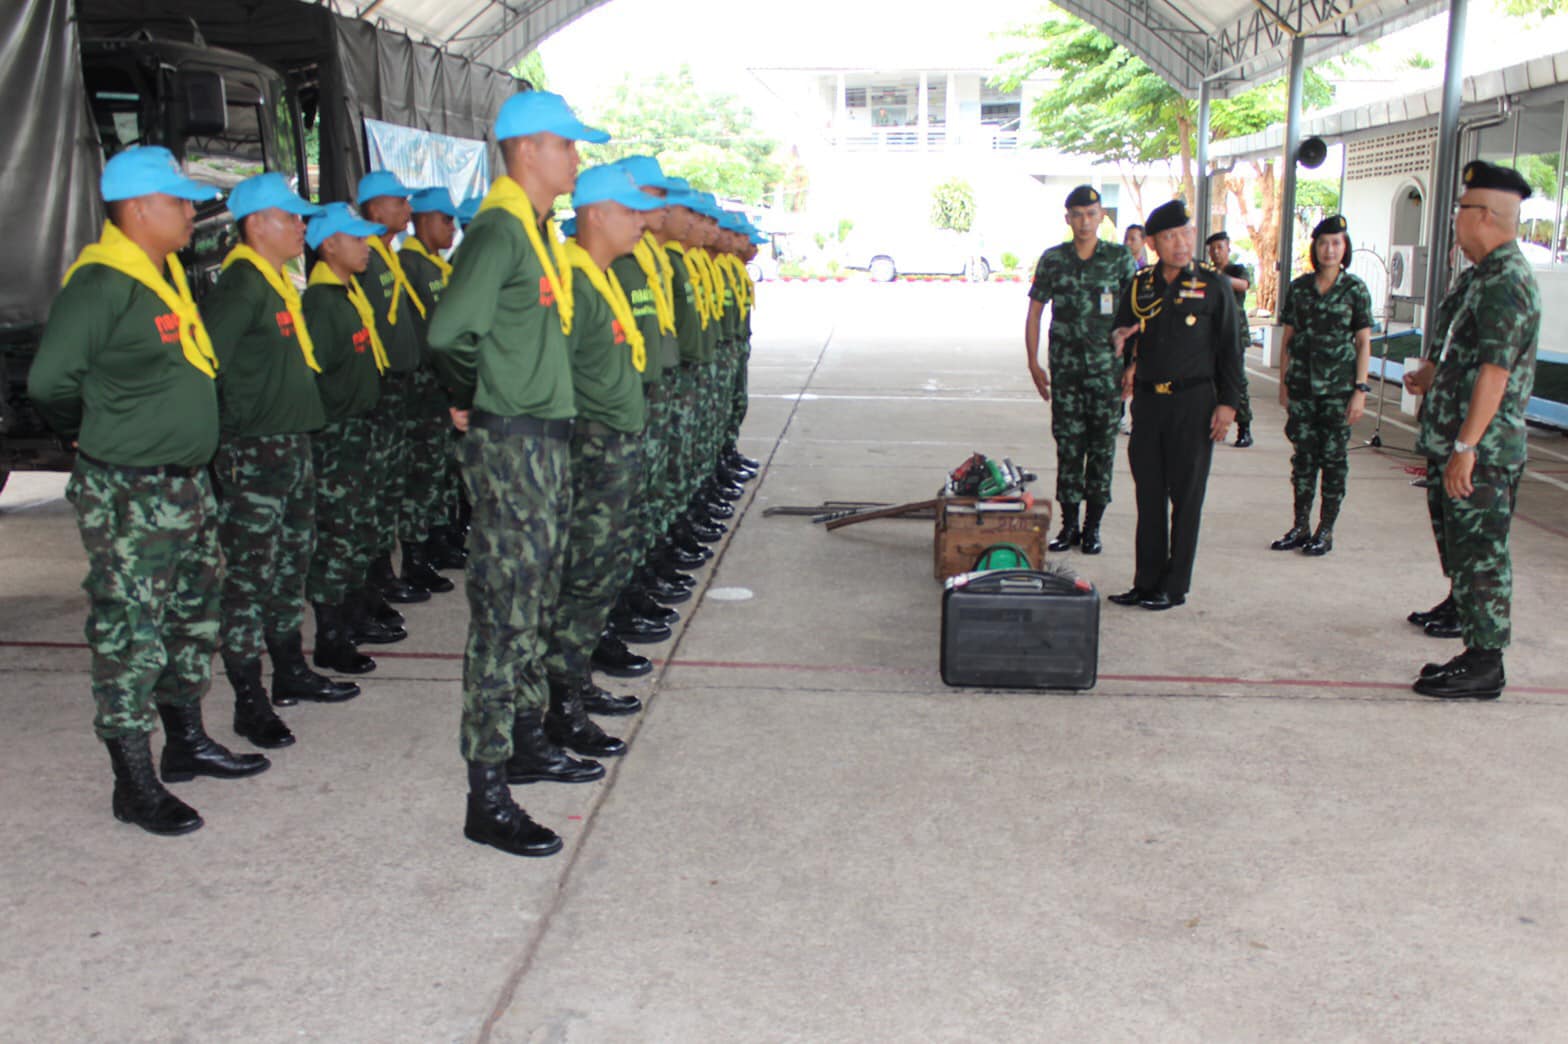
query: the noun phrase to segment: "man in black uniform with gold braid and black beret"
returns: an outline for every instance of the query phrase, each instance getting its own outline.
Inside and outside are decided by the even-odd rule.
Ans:
[[[1220,273],[1193,263],[1190,221],[1179,199],[1149,215],[1159,263],[1132,281],[1112,334],[1127,354],[1138,535],[1132,589],[1110,600],[1146,610],[1187,600],[1214,444],[1225,440],[1240,397],[1236,296]]]

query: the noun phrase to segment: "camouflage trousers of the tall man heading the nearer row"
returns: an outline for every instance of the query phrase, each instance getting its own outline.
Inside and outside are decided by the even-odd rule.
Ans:
[[[511,757],[517,712],[544,707],[546,633],[571,513],[571,444],[470,428],[459,444],[474,505],[469,641],[463,657],[463,757]]]

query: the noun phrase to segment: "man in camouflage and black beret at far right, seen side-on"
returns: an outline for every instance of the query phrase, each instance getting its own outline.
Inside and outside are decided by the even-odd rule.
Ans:
[[[1496,699],[1507,683],[1508,527],[1524,473],[1541,295],[1518,245],[1529,183],[1512,168],[1479,160],[1465,166],[1463,182],[1454,240],[1474,268],[1438,309],[1432,343],[1441,361],[1433,368],[1436,353],[1428,353],[1405,375],[1405,387],[1427,397],[1416,451],[1427,458],[1427,511],[1465,652],[1424,666],[1414,688],[1446,699]]]

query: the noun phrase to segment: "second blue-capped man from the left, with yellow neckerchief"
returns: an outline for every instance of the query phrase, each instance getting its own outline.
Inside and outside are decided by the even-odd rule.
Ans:
[[[321,367],[304,306],[284,265],[304,251],[306,202],[282,174],[234,187],[240,245],[223,259],[202,318],[218,353],[223,436],[213,461],[223,547],[223,666],[234,685],[234,730],[256,746],[295,741],[262,688],[262,647],[273,662],[273,702],[337,702],[359,694],[304,662],[304,580],[315,544],[310,433],[326,423]]]

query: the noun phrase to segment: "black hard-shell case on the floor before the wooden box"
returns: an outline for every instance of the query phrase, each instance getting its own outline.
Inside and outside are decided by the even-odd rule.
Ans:
[[[1022,550],[997,560],[1004,553]],[[947,685],[1085,690],[1098,669],[1099,594],[1088,580],[1066,569],[983,569],[944,585]]]

